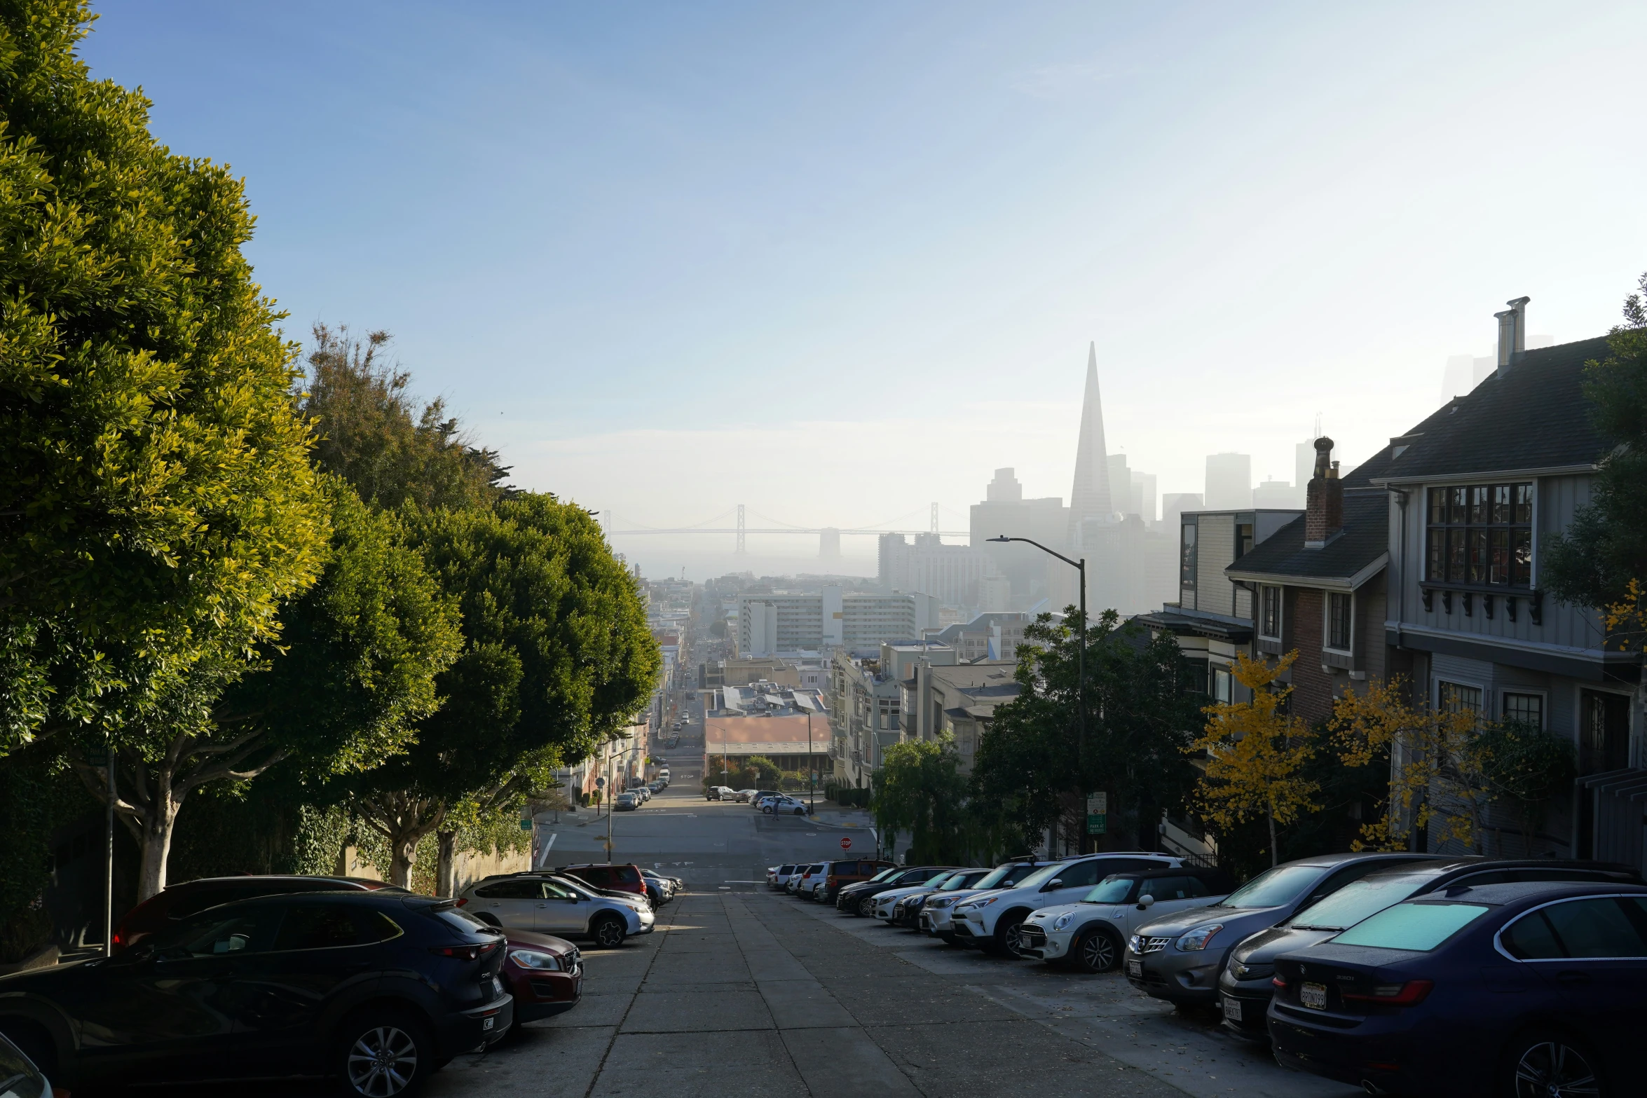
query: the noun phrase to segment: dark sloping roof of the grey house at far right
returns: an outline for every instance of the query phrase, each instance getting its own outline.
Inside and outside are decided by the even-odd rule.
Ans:
[[[1405,481],[1594,464],[1609,446],[1589,418],[1584,364],[1607,354],[1606,336],[1527,351],[1410,430],[1407,449],[1380,454],[1382,468],[1369,476]]]

